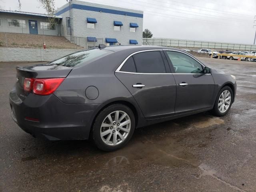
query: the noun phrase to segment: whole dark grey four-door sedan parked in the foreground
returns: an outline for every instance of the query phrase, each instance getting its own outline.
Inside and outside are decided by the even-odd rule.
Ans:
[[[16,71],[9,100],[20,128],[48,140],[90,135],[105,151],[138,127],[208,110],[224,116],[236,96],[234,76],[160,46],[100,45]]]

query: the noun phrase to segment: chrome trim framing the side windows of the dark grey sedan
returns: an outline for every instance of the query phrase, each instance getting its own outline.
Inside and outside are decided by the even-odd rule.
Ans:
[[[155,74],[192,74],[192,75],[211,75],[210,73],[209,74],[203,74],[203,73],[134,73],[134,72],[126,72],[126,71],[120,71],[122,66],[124,65],[124,63],[131,57],[133,56],[134,54],[137,54],[137,53],[141,53],[141,52],[149,52],[149,51],[175,51],[175,52],[180,52],[180,53],[183,53],[183,54],[186,54],[188,56],[190,56],[189,54],[185,53],[185,52],[182,52],[182,51],[179,51],[179,50],[171,50],[171,49],[149,49],[149,50],[142,50],[142,51],[137,51],[137,52],[134,52],[132,54],[130,54],[128,57],[126,57],[126,59],[120,64],[120,66],[116,69],[115,72],[118,72],[118,73],[129,73],[129,74],[150,74],[150,75],[155,75]],[[199,60],[197,60],[196,58],[193,58],[192,56],[190,56],[192,59],[196,60],[200,65],[202,65],[203,67],[205,67]]]

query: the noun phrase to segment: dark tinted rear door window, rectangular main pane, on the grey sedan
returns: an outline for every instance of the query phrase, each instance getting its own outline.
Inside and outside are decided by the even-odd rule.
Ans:
[[[138,73],[166,73],[160,51],[137,53],[133,58]]]

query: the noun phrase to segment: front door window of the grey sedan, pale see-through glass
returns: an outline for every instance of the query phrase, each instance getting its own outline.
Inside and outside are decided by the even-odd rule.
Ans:
[[[202,65],[192,57],[175,51],[166,51],[176,73],[204,73]]]

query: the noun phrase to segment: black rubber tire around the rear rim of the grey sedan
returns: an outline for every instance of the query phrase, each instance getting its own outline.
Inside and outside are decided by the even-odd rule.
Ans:
[[[100,136],[100,128],[101,128],[101,124],[104,121],[104,119],[106,118],[106,116],[108,116],[108,114],[110,114],[111,112],[114,112],[116,110],[121,110],[128,114],[128,116],[130,117],[130,120],[131,120],[131,127],[130,127],[130,132],[129,132],[128,136],[125,138],[125,140],[122,143],[120,143],[116,146],[110,146],[110,145],[105,144],[102,141],[102,138]],[[92,139],[93,139],[95,145],[99,149],[101,149],[103,151],[114,151],[114,150],[118,150],[118,149],[124,147],[129,142],[129,140],[132,138],[132,135],[134,133],[134,129],[135,129],[135,118],[134,118],[134,114],[133,114],[132,110],[128,106],[123,105],[123,104],[113,104],[113,105],[108,106],[107,108],[104,108],[96,117],[94,124],[92,126]]]

